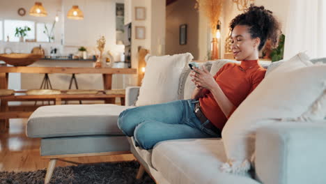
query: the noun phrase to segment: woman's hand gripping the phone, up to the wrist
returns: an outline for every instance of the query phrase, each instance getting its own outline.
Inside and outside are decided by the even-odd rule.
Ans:
[[[199,68],[194,68],[190,74],[190,77],[192,77],[192,82],[194,82],[198,89],[204,88],[210,90],[217,85],[215,79],[212,77],[212,75],[210,75],[210,72],[208,72],[204,66],[202,67],[202,70],[199,70]]]

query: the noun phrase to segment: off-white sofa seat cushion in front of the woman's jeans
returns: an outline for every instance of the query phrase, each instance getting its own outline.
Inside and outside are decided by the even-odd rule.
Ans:
[[[162,141],[153,148],[152,164],[169,183],[250,183],[247,176],[223,173],[226,162],[222,139],[178,139]]]

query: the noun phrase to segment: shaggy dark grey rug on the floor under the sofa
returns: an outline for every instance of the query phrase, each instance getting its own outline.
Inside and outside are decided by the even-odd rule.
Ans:
[[[99,163],[99,164],[80,164],[77,166],[56,167],[50,183],[57,184],[155,184],[155,182],[144,174],[141,180],[137,180],[136,174],[139,163],[116,162],[116,163]],[[29,171],[29,172],[0,172],[0,183],[13,184],[36,184],[44,183],[46,170]]]

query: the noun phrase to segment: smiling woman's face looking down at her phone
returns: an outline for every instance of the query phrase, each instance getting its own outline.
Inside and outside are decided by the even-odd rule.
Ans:
[[[258,59],[260,38],[251,38],[249,26],[237,25],[231,33],[231,49],[237,61]]]

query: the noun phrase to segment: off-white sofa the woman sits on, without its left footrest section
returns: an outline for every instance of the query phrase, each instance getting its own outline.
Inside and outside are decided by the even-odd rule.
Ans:
[[[313,62],[325,59],[314,59]],[[228,60],[212,61],[215,73]],[[205,63],[206,66],[212,64]],[[282,61],[262,63],[266,75]],[[208,67],[209,68],[209,67]],[[194,89],[189,74],[180,78],[179,99],[189,99]],[[184,77],[184,78],[183,78]],[[134,105],[139,87],[127,88],[126,105]],[[130,150],[148,174],[160,184],[170,183],[326,183],[326,121],[316,123],[288,122],[258,129],[256,133],[255,169],[247,176],[220,171],[226,162],[222,139],[178,139],[162,141],[146,151],[134,145],[129,137]]]

